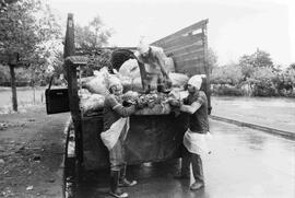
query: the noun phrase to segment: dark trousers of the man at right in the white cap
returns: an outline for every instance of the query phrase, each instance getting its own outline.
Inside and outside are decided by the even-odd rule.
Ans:
[[[189,165],[192,166],[192,175],[196,182],[204,183],[202,159],[199,154],[191,153],[182,147],[181,174],[190,175]]]

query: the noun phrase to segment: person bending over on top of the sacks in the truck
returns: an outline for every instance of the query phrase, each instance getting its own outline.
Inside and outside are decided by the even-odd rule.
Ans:
[[[139,62],[142,85],[145,92],[156,90],[165,92],[166,88],[172,86],[172,81],[165,70],[164,58],[166,55],[162,48],[141,42],[134,57]]]

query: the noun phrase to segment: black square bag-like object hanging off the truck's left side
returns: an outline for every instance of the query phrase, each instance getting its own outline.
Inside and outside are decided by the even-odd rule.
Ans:
[[[68,89],[51,90],[52,79],[54,77],[50,79],[48,89],[45,90],[47,114],[70,112]]]

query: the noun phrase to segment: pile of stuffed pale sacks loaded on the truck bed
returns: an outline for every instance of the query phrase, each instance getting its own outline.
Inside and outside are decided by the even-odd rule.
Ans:
[[[188,81],[188,77],[182,73],[174,72],[173,60],[167,58],[165,61],[169,72],[168,75],[173,83],[173,90],[181,90]],[[128,103],[140,103],[142,108],[138,110],[137,115],[160,115],[169,114],[170,106],[168,104],[169,94],[143,93],[140,69],[135,59],[129,59],[120,67],[119,71],[114,71],[110,74],[107,68],[102,68],[94,72],[94,77],[81,79],[82,90],[79,91],[80,108],[82,113],[90,114],[95,110],[103,109],[104,100],[108,91],[108,84],[114,78],[119,79],[123,86],[123,101]]]

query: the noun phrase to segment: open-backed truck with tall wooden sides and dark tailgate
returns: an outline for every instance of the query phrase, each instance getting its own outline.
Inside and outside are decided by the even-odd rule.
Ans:
[[[173,58],[176,72],[185,73],[188,77],[205,74],[203,83],[205,84],[204,91],[209,100],[210,112],[208,22],[209,20],[202,20],[151,45],[162,47],[164,53]],[[134,50],[135,47],[109,47],[108,49]],[[72,13],[68,14],[63,57],[68,80],[68,105],[74,126],[76,162],[85,170],[107,167],[109,165],[108,150],[99,136],[103,131],[103,114],[84,116],[79,106],[78,70],[86,65],[87,57],[81,51],[76,53]],[[178,116],[174,114],[130,116],[130,130],[125,143],[127,163],[162,162],[180,158],[180,148],[186,130],[186,114]]]

